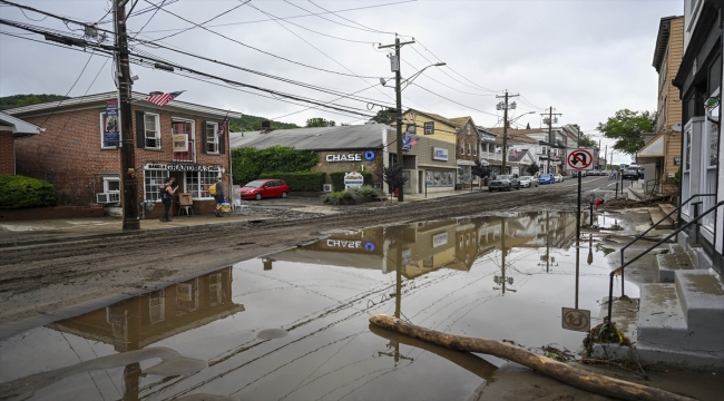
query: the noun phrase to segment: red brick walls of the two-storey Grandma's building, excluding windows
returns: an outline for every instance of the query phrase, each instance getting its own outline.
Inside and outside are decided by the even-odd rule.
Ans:
[[[183,113],[134,106],[134,137],[136,135],[136,110],[159,115],[162,138],[160,150],[139,148],[134,139],[139,202],[144,200],[144,165],[173,162],[172,117],[194,120],[196,164],[225,168],[227,173],[224,175],[224,183],[226,188],[229,187],[228,129],[225,130],[222,138],[226,145],[224,154],[207,155],[204,153],[204,121],[221,123],[222,118],[207,119]],[[105,106],[98,106],[85,110],[58,113],[49,117],[47,115],[23,117],[26,121],[46,128],[46,131],[16,140],[17,174],[52,184],[60,196],[61,204],[95,203],[95,194],[102,192],[100,173],[120,173],[119,150],[101,148],[100,118],[104,111]],[[212,211],[213,205],[215,205],[213,199],[194,202],[194,208],[198,209],[197,213]],[[156,207],[156,211],[158,209]]]

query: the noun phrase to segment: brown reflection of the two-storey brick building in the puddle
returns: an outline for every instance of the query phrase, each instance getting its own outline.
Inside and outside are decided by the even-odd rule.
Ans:
[[[55,322],[49,327],[112,344],[116,351],[125,352],[243,311],[244,305],[232,302],[229,266]]]

